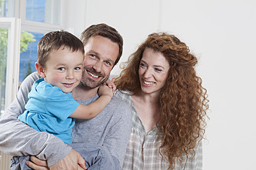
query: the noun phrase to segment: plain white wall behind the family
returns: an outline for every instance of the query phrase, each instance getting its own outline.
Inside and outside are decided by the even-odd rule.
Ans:
[[[178,36],[199,58],[209,91],[204,169],[255,169],[256,1],[74,0],[75,33],[107,23],[123,36],[122,61],[147,34]],[[113,73],[120,71],[118,67]]]

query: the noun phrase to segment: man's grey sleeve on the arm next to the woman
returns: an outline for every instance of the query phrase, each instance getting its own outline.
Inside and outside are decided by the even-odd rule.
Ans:
[[[118,120],[114,123],[105,138],[104,146],[109,149],[112,156],[118,158],[120,165],[125,159],[125,153],[127,144],[129,141],[129,136],[131,134],[131,108],[117,97],[114,97],[115,106],[110,106],[114,108],[115,114],[119,114]],[[118,104],[117,104],[118,103]]]

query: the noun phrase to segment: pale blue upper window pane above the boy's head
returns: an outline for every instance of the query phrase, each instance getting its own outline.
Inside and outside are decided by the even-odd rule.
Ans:
[[[27,0],[25,19],[60,25],[61,0]]]

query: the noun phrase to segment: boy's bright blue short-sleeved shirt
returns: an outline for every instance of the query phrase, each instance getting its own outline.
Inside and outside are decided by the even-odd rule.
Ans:
[[[61,88],[41,78],[34,82],[28,97],[25,112],[19,116],[19,120],[40,132],[54,134],[67,144],[72,143],[75,121],[69,116],[79,105],[72,93],[63,93]]]

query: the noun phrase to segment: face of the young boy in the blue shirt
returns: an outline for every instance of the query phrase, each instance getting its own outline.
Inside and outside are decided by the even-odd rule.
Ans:
[[[61,48],[50,52],[45,62],[45,81],[70,93],[81,82],[83,73],[83,53]]]

